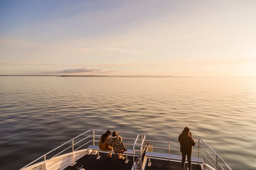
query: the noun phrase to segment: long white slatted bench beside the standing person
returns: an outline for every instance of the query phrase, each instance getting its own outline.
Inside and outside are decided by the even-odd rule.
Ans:
[[[171,160],[182,160],[182,156],[180,156],[180,155],[172,155],[172,154],[157,153],[157,152],[146,152],[145,156],[149,158],[148,166],[151,166],[150,157],[152,157],[152,158],[164,158],[164,159],[171,159]],[[186,159],[186,161],[187,161],[187,159]],[[191,162],[202,164],[203,159],[202,158],[191,157]]]

